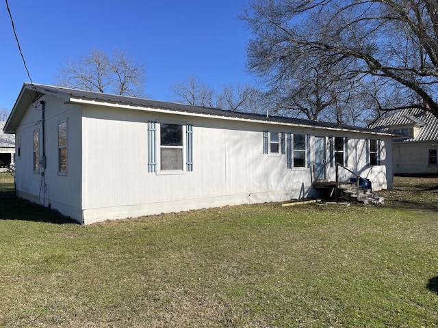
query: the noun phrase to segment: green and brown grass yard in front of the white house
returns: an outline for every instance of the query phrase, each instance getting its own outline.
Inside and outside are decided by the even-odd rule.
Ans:
[[[0,193],[0,327],[437,327],[438,178],[82,227]]]

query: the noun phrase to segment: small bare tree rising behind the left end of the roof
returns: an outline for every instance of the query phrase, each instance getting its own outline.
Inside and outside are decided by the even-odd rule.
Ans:
[[[110,57],[99,49],[68,61],[57,76],[57,84],[64,87],[124,96],[142,96],[144,80],[144,66],[125,51],[114,51]]]

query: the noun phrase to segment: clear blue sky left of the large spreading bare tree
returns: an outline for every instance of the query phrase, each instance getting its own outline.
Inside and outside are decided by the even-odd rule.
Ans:
[[[248,0],[8,0],[34,83],[53,84],[67,59],[92,49],[125,50],[146,68],[148,98],[190,75],[219,90],[253,83],[246,72],[249,31],[237,16]],[[12,109],[28,82],[5,3],[0,7],[0,107]]]

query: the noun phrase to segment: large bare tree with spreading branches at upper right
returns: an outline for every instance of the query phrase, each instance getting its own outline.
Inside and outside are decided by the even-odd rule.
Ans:
[[[368,94],[377,109],[438,118],[437,0],[252,0],[242,18],[253,31],[248,68],[271,82],[318,58],[335,68],[333,83],[378,86]],[[351,92],[346,99],[363,96]]]

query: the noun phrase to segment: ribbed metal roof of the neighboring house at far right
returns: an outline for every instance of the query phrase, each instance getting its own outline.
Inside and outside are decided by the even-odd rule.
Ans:
[[[418,108],[400,109],[381,120],[378,120],[370,128],[378,128],[381,131],[391,131],[393,128],[416,126],[419,131],[414,137],[400,137],[394,141],[438,141],[438,118]]]

